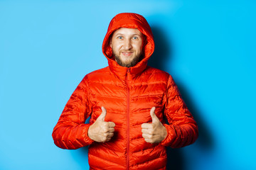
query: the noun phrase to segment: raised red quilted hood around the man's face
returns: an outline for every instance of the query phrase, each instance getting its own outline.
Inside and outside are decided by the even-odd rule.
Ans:
[[[110,26],[107,29],[107,34],[103,40],[102,52],[107,57],[110,69],[114,74],[119,76],[126,74],[127,67],[122,67],[114,60],[112,55],[112,48],[110,47],[110,38],[114,30],[119,28],[137,28],[142,34],[146,36],[146,43],[144,43],[144,56],[134,67],[130,68],[131,74],[139,74],[146,69],[147,62],[154,52],[154,38],[151,32],[149,23],[146,19],[137,13],[119,13],[112,18]]]

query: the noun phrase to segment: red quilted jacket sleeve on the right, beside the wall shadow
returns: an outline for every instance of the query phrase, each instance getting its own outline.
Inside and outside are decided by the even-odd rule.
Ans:
[[[169,125],[164,124],[167,136],[161,141],[161,145],[172,148],[191,145],[198,138],[198,126],[171,76],[169,76],[165,97],[164,115]]]

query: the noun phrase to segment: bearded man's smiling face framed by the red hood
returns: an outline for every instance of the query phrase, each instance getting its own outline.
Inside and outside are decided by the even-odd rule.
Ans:
[[[134,28],[115,30],[110,47],[116,62],[122,67],[133,67],[142,56],[144,35]]]

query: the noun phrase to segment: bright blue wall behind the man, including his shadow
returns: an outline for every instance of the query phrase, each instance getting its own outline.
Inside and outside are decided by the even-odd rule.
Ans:
[[[87,147],[51,133],[85,74],[107,66],[112,17],[142,14],[156,40],[149,64],[169,72],[199,126],[169,149],[173,169],[256,169],[256,1],[0,0],[0,169],[88,169]]]

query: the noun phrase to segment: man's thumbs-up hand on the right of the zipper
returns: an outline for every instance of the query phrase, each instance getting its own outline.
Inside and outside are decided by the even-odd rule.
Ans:
[[[167,135],[166,128],[154,113],[155,109],[156,108],[153,107],[150,111],[152,123],[142,124],[142,137],[144,137],[144,140],[149,143],[159,143],[164,140]]]

